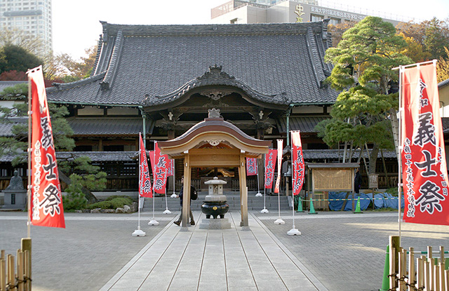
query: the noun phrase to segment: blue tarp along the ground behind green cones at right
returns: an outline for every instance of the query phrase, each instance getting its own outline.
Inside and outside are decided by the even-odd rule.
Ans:
[[[354,194],[354,208],[356,207],[357,198],[360,197],[360,209],[366,210],[370,205],[370,201],[373,199],[373,193],[368,194]],[[339,211],[342,209],[344,201],[332,201],[332,199],[344,199],[347,196],[347,192],[329,192],[329,209],[333,211]],[[348,199],[352,198],[352,194],[349,194]],[[379,193],[374,195],[374,206],[375,208],[396,208],[398,209],[398,198],[392,196],[389,193]],[[404,199],[402,196],[401,207],[404,208]],[[352,210],[352,201],[348,200],[344,211]]]

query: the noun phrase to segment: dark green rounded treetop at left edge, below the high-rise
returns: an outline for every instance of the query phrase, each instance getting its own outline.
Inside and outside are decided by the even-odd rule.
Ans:
[[[2,48],[0,53],[3,55],[0,57],[0,74],[12,70],[27,72],[28,69],[42,65],[42,60],[39,57],[20,46],[8,44]]]

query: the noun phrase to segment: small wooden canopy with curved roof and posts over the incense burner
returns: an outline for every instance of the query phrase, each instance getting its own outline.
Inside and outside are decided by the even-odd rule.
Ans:
[[[224,121],[218,109],[208,111],[208,118],[192,126],[185,134],[173,140],[159,142],[161,154],[167,154],[169,158],[183,159],[183,193],[186,201],[190,199],[192,168],[237,168],[241,199],[240,226],[249,229],[246,158],[261,158],[262,154],[268,153],[272,142],[246,135],[232,123]],[[189,203],[182,205],[181,231],[188,231],[188,207]]]

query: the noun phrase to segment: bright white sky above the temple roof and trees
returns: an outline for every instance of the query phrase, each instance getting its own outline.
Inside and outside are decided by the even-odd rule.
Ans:
[[[75,59],[85,55],[85,49],[95,46],[102,26],[100,20],[123,25],[194,25],[208,24],[210,8],[227,0],[53,0],[53,50],[68,53]],[[400,15],[415,21],[449,18],[448,0],[339,0],[324,1],[340,10],[361,9]],[[354,11],[357,12],[358,10]]]

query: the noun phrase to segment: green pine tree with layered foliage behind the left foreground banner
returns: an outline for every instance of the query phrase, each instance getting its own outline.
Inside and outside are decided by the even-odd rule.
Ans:
[[[2,113],[0,114],[0,123],[9,124],[13,133],[10,137],[0,137],[0,156],[4,154],[15,156],[13,159],[14,166],[25,163],[27,160],[28,124],[23,120],[22,122],[15,122],[16,119],[14,119],[26,116],[28,110],[27,95],[27,84],[6,88],[0,93],[0,96],[4,99],[14,98],[15,100],[22,99],[25,101],[22,104],[15,104],[13,108],[0,107]],[[65,119],[65,116],[69,114],[67,107],[50,103],[48,109],[51,116],[55,149],[57,151],[72,151],[75,143],[71,137],[73,130]],[[70,197],[77,201],[71,203],[75,205],[83,200],[82,197],[87,197],[88,201],[96,202],[97,198],[93,196],[91,191],[100,191],[106,187],[106,173],[101,172],[99,167],[91,165],[91,160],[85,156],[71,155],[65,159],[58,158],[58,172],[60,180],[69,185]]]

